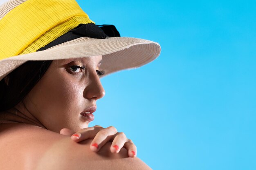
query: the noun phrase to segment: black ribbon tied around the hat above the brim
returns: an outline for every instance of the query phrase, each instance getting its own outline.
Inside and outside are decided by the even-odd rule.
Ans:
[[[37,51],[43,51],[49,49],[52,46],[56,46],[63,42],[74,40],[80,37],[104,39],[106,37],[120,37],[120,34],[114,25],[95,25],[94,23],[79,24],[78,26],[76,26],[76,28],[61,35],[56,40],[50,42],[49,44],[38,49]]]

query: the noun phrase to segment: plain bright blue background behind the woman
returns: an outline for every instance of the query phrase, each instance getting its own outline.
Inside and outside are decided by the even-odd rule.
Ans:
[[[90,126],[115,126],[153,170],[256,169],[256,2],[77,0],[160,56],[101,79]]]

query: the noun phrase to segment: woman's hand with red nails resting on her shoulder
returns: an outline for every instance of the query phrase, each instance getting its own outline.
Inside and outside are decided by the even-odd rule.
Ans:
[[[117,132],[114,126],[103,128],[95,125],[89,128],[83,128],[78,132],[74,132],[71,129],[63,128],[60,134],[71,136],[71,139],[80,142],[86,139],[93,139],[90,145],[90,149],[94,152],[100,150],[100,148],[107,143],[112,141],[110,151],[112,153],[118,153],[122,147],[128,150],[129,157],[136,157],[137,147],[133,144],[132,140],[128,139],[124,132]]]

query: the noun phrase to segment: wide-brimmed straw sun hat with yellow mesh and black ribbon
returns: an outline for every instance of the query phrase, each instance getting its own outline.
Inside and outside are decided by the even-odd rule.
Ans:
[[[104,77],[152,62],[160,51],[157,42],[96,25],[75,0],[9,0],[0,6],[0,80],[29,60],[95,55],[102,55]]]

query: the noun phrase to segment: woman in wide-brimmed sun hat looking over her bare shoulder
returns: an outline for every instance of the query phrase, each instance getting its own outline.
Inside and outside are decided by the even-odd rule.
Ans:
[[[88,128],[100,78],[159,56],[159,44],[119,36],[75,0],[0,7],[1,169],[150,169],[123,132]]]

